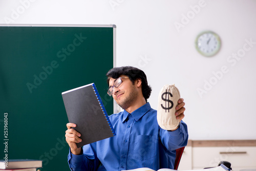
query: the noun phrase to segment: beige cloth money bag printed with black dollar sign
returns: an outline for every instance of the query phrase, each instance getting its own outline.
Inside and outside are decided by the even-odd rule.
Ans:
[[[180,92],[174,84],[166,84],[161,89],[158,96],[157,122],[162,129],[174,130],[180,124],[180,120],[175,116],[179,99]]]

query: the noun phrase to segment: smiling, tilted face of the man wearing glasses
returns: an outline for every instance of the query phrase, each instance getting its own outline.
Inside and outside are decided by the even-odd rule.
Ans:
[[[122,83],[118,88],[113,88],[112,97],[122,109],[127,109],[135,102],[138,97],[138,89],[135,84],[125,75],[120,75]],[[116,79],[110,78],[109,85],[113,86]]]

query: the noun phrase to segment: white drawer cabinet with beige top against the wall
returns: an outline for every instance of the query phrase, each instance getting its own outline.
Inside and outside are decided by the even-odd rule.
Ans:
[[[178,169],[216,167],[223,160],[234,171],[256,168],[256,140],[188,140]]]

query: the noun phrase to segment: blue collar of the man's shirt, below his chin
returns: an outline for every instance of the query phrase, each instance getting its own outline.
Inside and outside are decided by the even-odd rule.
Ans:
[[[131,113],[131,115],[134,117],[136,121],[138,121],[143,115],[145,115],[148,111],[151,110],[151,105],[150,103],[146,103],[142,105],[140,108],[136,109]],[[127,111],[123,111],[123,118],[122,118],[122,123],[127,119],[130,113]]]

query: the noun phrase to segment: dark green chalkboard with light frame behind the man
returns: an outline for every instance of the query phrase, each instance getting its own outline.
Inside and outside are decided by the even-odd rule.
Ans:
[[[61,92],[94,82],[113,113],[105,74],[114,67],[115,29],[0,26],[1,159],[38,159],[42,171],[70,170]]]

